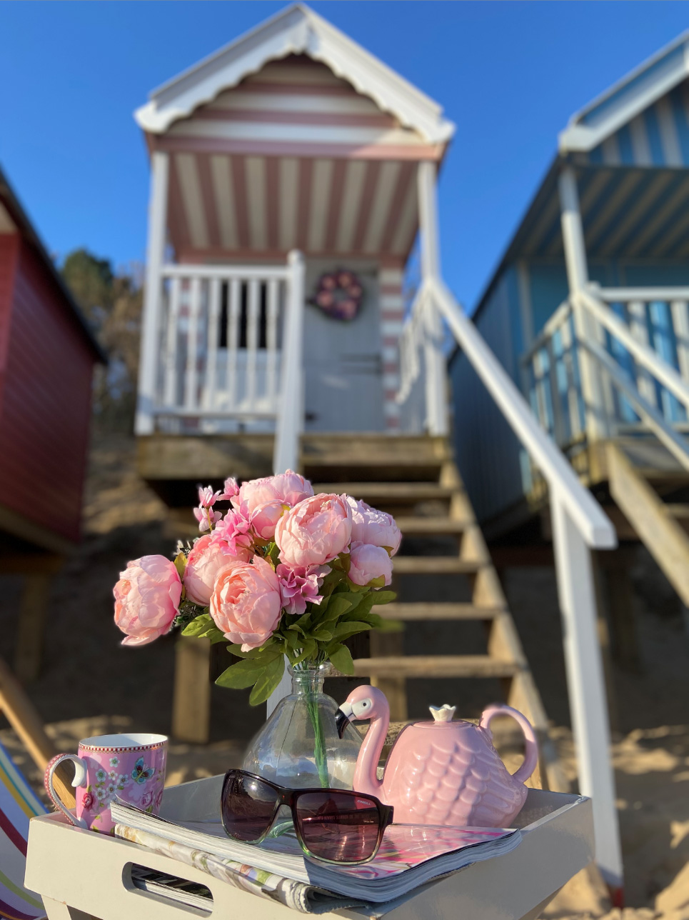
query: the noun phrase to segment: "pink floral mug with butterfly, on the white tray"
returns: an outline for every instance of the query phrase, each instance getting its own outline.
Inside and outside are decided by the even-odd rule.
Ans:
[[[57,765],[71,760],[75,765],[76,809],[70,811],[53,787]],[[110,799],[131,802],[137,808],[157,814],[163,798],[167,738],[165,735],[97,735],[79,742],[79,756],[59,753],[45,771],[45,788],[52,802],[77,827],[110,834]]]

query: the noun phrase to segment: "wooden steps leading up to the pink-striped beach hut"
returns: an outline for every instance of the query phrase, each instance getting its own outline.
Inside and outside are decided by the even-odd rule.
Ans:
[[[303,441],[302,470],[316,492],[348,492],[394,514],[402,531],[394,560],[398,599],[376,612],[406,628],[373,632],[368,657],[354,661],[357,676],[370,677],[385,692],[391,719],[404,722],[409,709],[416,708],[408,706],[409,680],[488,679],[496,684],[497,679],[503,700],[520,709],[540,735],[544,757],[535,782],[564,788],[547,739],[543,704],[447,440],[309,435]],[[328,481],[322,476],[326,471]],[[482,624],[485,649],[443,649],[456,641],[447,636],[449,622]],[[435,640],[428,628],[419,640],[418,627],[432,629],[433,624]],[[430,644],[432,653],[417,651]],[[455,700],[461,709],[459,687],[450,702]],[[488,695],[482,698],[485,705],[491,701]]]

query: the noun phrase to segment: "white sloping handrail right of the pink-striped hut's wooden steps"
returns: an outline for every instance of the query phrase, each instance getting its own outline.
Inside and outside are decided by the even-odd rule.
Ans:
[[[554,497],[567,510],[586,544],[597,549],[617,546],[613,524],[591,492],[581,485],[564,454],[541,429],[528,403],[477,328],[466,318],[453,294],[438,279],[429,279],[425,283],[430,286],[442,316],[468,361],[500,407],[512,431],[540,467]]]

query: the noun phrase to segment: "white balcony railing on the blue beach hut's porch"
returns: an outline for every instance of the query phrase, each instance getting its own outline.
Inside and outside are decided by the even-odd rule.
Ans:
[[[689,288],[590,284],[550,317],[522,372],[534,413],[563,449],[650,430],[689,468]]]

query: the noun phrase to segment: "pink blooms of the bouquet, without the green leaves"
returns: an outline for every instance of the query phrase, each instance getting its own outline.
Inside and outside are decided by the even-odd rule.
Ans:
[[[217,501],[230,509],[216,511]],[[215,626],[242,650],[263,645],[281,616],[319,604],[331,564],[349,555],[354,585],[382,587],[402,535],[395,520],[349,495],[314,495],[287,470],[222,492],[199,489],[194,509],[201,536],[178,566],[162,556],[130,562],[114,588],[115,622],[125,645],[145,645],[169,632],[181,600],[208,607]],[[275,545],[279,561],[274,564]],[[181,568],[181,567],[180,567]]]

